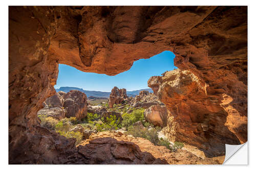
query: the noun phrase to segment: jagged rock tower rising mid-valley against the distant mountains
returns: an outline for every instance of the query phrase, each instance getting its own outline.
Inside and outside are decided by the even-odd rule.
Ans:
[[[126,89],[119,89],[114,87],[111,90],[110,99],[109,99],[109,108],[113,108],[114,104],[122,104],[124,99],[127,98]]]

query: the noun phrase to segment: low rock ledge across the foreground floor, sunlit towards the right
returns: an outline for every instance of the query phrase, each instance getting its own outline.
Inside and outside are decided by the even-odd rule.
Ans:
[[[179,149],[170,152],[149,140],[122,132],[98,132],[78,146],[75,161],[89,164],[221,164],[224,159],[201,159]],[[86,159],[85,159],[86,158]]]

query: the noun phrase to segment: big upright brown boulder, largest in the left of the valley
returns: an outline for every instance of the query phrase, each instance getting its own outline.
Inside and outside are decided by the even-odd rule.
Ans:
[[[63,107],[67,110],[66,117],[81,119],[87,116],[87,96],[81,91],[70,90],[64,96]]]

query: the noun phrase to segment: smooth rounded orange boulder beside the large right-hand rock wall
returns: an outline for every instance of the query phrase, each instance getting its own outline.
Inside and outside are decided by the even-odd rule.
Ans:
[[[154,105],[144,111],[144,117],[147,122],[162,128],[167,126],[167,116],[168,113],[165,106]]]

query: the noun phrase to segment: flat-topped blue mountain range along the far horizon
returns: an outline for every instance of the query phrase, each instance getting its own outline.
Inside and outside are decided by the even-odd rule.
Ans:
[[[90,90],[83,90],[82,88],[77,88],[77,87],[60,87],[55,89],[57,92],[58,91],[64,91],[64,92],[69,92],[70,90],[78,90],[81,92],[84,92],[87,96],[94,96],[98,98],[109,98],[111,92],[103,92],[103,91],[90,91]],[[140,93],[142,90],[147,90],[151,93],[153,93],[153,90],[151,88],[146,88],[146,89],[141,89],[141,90],[133,90],[133,91],[126,91],[128,96],[135,97]]]

